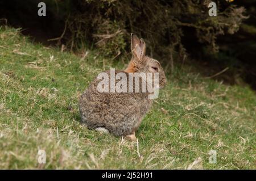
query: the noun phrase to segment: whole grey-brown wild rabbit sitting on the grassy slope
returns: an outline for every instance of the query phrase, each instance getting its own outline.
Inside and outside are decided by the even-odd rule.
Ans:
[[[157,60],[146,56],[146,44],[131,33],[132,58],[125,73],[159,73],[159,88],[166,85],[167,79],[163,68]],[[110,75],[109,71],[105,72]],[[114,136],[124,136],[127,140],[137,140],[135,131],[143,117],[150,110],[152,99],[150,92],[99,92],[97,85],[101,80],[96,78],[85,90],[79,100],[81,122],[90,129]]]

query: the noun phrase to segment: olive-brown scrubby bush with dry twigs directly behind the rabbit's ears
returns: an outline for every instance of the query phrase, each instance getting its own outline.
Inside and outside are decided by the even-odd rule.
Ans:
[[[196,36],[197,41],[217,52],[219,35],[238,31],[245,9],[226,1],[217,1],[218,15],[208,15],[211,1],[72,1],[64,39],[74,48],[92,40],[106,56],[129,50],[129,33],[148,42],[150,54],[185,54],[182,37]],[[190,33],[184,35],[187,28]],[[101,43],[98,43],[98,42]],[[74,43],[76,45],[74,45]],[[70,47],[70,46],[69,46]]]

